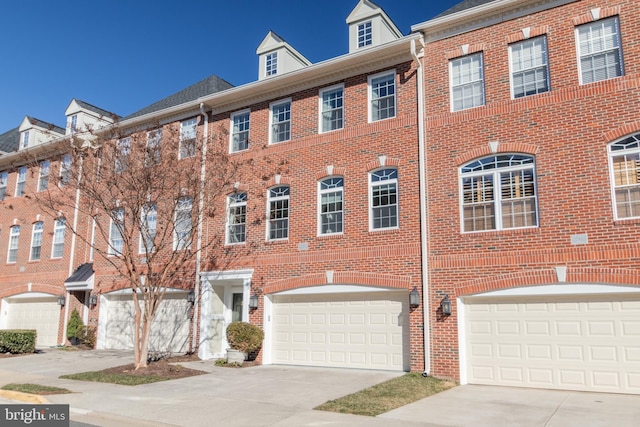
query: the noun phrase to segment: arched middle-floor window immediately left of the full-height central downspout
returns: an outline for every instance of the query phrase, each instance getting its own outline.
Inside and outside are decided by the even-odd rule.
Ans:
[[[369,229],[398,228],[398,169],[369,174]]]

